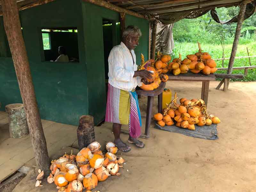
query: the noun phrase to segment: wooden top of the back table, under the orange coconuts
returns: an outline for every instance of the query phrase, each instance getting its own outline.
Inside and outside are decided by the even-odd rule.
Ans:
[[[201,73],[194,74],[192,72],[188,72],[185,74],[180,74],[180,75],[173,75],[172,73],[167,73],[166,75],[169,76],[169,80],[179,80],[179,81],[215,81],[215,74],[210,74],[210,75],[204,75]]]

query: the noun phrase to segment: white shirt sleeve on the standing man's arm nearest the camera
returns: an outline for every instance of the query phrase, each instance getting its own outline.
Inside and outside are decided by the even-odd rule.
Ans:
[[[109,68],[111,68],[110,75],[113,75],[113,78],[117,81],[132,81],[134,71],[124,69],[124,56],[119,50],[111,50],[108,57],[108,64]]]

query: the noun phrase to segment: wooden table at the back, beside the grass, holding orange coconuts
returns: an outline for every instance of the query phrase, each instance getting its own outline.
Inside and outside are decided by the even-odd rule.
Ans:
[[[180,75],[173,75],[172,73],[167,73],[166,75],[169,76],[169,81],[202,81],[202,92],[201,92],[201,99],[204,100],[205,105],[208,102],[208,92],[209,92],[209,83],[210,81],[215,81],[215,75],[204,75],[201,73],[194,74],[192,72],[188,72],[185,74]]]

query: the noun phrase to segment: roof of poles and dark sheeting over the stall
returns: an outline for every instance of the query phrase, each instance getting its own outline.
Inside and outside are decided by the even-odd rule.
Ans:
[[[56,0],[17,0],[20,10],[33,6],[46,4]],[[146,19],[157,19],[163,23],[173,23],[184,18],[195,18],[201,16],[211,9],[219,7],[237,6],[242,2],[249,3],[250,0],[83,0],[98,4],[100,6],[114,7],[120,12]],[[70,0],[72,2],[72,0]],[[253,1],[255,2],[255,1]],[[1,6],[1,1],[0,1]],[[0,7],[0,13],[1,13]]]

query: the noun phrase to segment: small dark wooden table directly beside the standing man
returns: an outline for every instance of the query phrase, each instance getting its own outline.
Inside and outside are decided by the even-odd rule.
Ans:
[[[158,96],[158,112],[162,113],[162,93],[164,91],[165,82],[162,82],[157,89],[154,91],[145,91],[138,89],[136,93],[138,95],[145,95],[148,96],[148,105],[147,105],[147,116],[146,116],[146,125],[145,125],[145,134],[141,134],[141,138],[148,139],[150,137],[150,123],[151,123],[151,116],[153,110],[153,101],[154,97]]]

